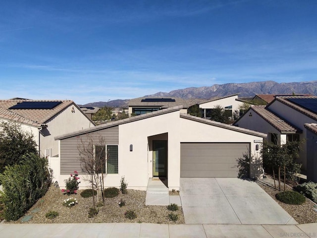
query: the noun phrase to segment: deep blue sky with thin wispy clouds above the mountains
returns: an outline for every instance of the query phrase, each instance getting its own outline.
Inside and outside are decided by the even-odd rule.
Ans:
[[[0,2],[0,99],[317,80],[316,0]]]

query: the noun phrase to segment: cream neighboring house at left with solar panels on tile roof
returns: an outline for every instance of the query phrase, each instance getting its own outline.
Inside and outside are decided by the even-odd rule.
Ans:
[[[32,132],[41,156],[58,156],[54,136],[95,126],[70,100],[0,100],[0,120],[17,122]]]

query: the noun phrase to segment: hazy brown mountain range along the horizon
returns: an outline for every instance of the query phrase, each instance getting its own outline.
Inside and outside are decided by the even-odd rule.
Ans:
[[[239,98],[254,97],[256,94],[311,94],[317,95],[317,81],[277,83],[274,81],[251,82],[251,83],[226,83],[214,84],[211,87],[191,87],[170,91],[169,93],[158,92],[144,97],[176,97],[183,99],[213,99],[239,94]],[[113,100],[108,102],[109,107],[124,107],[129,100]],[[88,103],[84,106],[105,107],[107,102]]]

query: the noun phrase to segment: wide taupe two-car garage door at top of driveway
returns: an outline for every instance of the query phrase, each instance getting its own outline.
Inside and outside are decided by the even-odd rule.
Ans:
[[[249,149],[249,143],[181,143],[180,177],[236,178],[237,160]]]

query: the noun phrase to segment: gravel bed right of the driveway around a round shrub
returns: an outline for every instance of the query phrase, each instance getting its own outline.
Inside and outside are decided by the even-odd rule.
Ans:
[[[283,203],[275,198],[275,194],[280,192],[275,190],[274,187],[265,185],[260,181],[258,184],[263,190],[270,195],[289,215],[291,215],[299,224],[315,223],[317,222],[317,212],[314,208],[317,208],[316,204],[306,198],[306,202],[302,205],[291,205]],[[282,189],[283,186],[282,186]],[[292,187],[286,186],[286,190],[292,190]],[[283,190],[282,190],[283,191]]]

